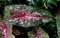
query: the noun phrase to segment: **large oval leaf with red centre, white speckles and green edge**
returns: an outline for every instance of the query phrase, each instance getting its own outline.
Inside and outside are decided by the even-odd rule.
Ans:
[[[7,17],[4,18],[6,23],[18,24],[21,27],[37,26],[42,22],[48,23],[52,20],[52,15],[48,11],[26,5],[6,6],[5,16]]]

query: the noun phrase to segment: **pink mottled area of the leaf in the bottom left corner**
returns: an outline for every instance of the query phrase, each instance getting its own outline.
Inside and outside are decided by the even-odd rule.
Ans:
[[[9,25],[0,21],[0,38],[9,38]]]

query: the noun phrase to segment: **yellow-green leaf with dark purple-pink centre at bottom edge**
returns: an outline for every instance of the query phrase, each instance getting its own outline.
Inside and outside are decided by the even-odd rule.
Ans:
[[[32,31],[28,32],[29,38],[49,38],[48,34],[41,29],[41,27],[35,27]]]

